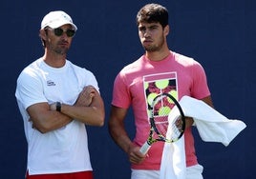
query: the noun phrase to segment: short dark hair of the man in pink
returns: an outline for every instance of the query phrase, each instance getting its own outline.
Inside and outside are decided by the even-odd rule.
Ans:
[[[137,25],[140,22],[160,23],[162,28],[168,25],[168,10],[159,4],[147,4],[137,14]]]

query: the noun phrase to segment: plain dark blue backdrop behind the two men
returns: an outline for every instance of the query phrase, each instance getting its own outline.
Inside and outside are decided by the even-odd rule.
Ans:
[[[139,43],[136,15],[153,1],[73,0],[1,1],[0,176],[24,178],[27,142],[15,101],[20,71],[43,55],[38,30],[51,10],[69,13],[77,26],[68,59],[95,73],[105,102],[104,127],[87,127],[95,179],[129,179],[126,154],[110,138],[107,128],[112,87],[117,72],[137,60],[144,50]],[[256,6],[253,0],[161,0],[169,10],[171,50],[199,61],[207,74],[215,108],[247,128],[228,147],[205,143],[196,129],[196,149],[206,179],[254,179]],[[133,115],[126,125],[134,136]]]

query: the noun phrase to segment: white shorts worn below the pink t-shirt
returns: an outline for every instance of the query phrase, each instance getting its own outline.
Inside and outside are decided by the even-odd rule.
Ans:
[[[195,165],[186,168],[185,179],[203,179],[203,166]],[[132,169],[131,179],[160,179],[160,170]]]

